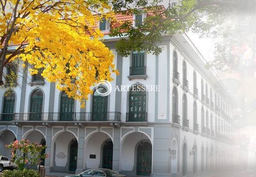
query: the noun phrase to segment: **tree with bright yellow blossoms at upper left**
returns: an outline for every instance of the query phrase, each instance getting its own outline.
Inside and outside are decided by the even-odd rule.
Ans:
[[[102,18],[113,18],[107,2],[0,0],[0,85],[4,66],[19,58],[33,66],[32,75],[43,68],[47,81],[57,83],[59,90],[83,106],[92,85],[101,79],[110,81],[111,73],[118,73],[114,55],[95,28]],[[9,53],[12,44],[18,47]]]

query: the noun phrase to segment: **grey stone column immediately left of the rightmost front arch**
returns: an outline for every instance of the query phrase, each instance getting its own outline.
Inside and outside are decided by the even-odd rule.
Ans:
[[[112,169],[114,171],[119,171],[119,155],[120,155],[120,127],[114,128],[113,136],[113,161]]]

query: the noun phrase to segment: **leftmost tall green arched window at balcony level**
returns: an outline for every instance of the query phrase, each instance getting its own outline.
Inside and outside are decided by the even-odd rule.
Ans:
[[[1,121],[12,121],[15,107],[15,94],[10,91],[4,96],[3,114],[0,118]]]

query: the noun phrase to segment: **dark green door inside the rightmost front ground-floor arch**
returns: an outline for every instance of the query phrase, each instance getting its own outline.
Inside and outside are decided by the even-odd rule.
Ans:
[[[149,142],[141,142],[137,150],[137,175],[150,176],[152,164],[152,146]]]

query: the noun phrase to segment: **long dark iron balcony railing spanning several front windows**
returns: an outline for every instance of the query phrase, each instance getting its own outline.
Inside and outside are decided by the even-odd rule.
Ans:
[[[15,113],[14,121],[120,121],[119,112]]]

